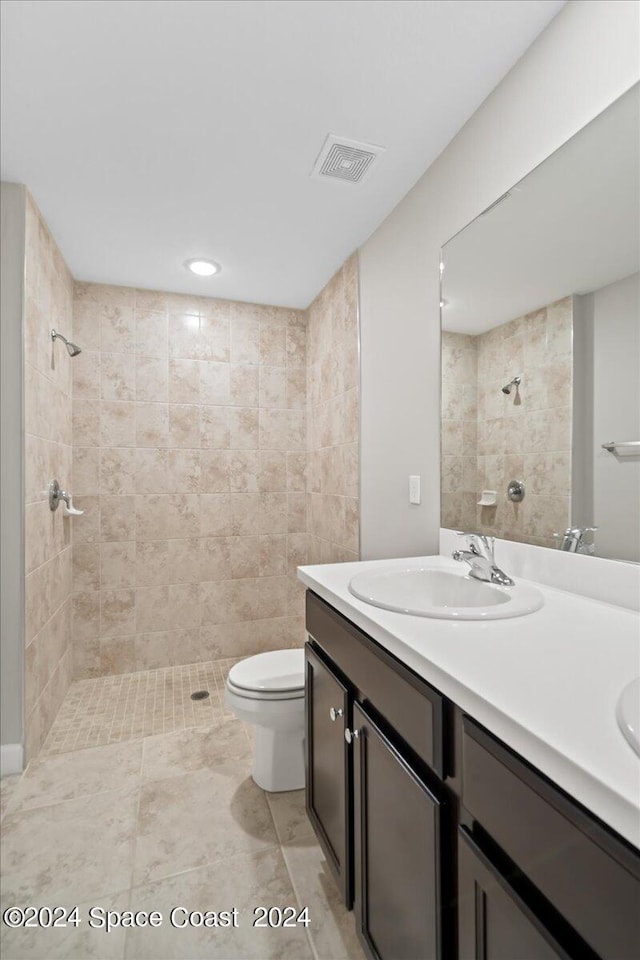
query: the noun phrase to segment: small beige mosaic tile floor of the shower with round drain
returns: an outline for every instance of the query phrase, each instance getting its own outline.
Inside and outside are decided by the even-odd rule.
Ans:
[[[224,681],[234,662],[217,660],[76,680],[40,756],[209,726],[228,715]],[[207,690],[209,696],[192,700],[191,694],[198,690]]]

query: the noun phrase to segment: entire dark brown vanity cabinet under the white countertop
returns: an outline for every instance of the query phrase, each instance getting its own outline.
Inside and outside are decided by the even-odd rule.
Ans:
[[[640,855],[307,593],[307,809],[370,960],[638,960]]]

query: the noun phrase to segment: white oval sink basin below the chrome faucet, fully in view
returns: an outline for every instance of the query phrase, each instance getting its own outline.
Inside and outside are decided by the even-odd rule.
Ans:
[[[396,613],[444,620],[502,620],[539,610],[535,587],[499,587],[436,567],[390,567],[359,573],[349,590],[366,603]]]

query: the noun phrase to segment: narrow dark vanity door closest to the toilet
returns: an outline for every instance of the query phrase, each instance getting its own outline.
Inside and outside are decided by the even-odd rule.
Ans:
[[[344,731],[349,695],[309,644],[306,652],[306,803],[342,899],[351,907],[351,776]]]

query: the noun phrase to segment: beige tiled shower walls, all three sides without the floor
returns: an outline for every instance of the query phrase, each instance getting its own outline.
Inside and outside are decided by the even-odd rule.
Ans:
[[[74,282],[27,225],[32,758],[73,681],[302,645],[296,567],[359,556],[359,373],[355,256],[300,311]]]

